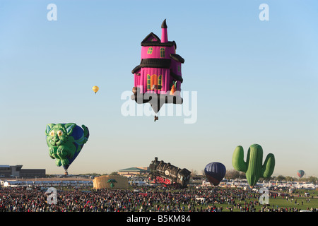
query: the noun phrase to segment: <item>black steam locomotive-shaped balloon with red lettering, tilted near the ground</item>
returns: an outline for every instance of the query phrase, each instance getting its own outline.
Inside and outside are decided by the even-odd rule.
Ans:
[[[180,169],[170,163],[158,161],[158,157],[155,157],[149,168],[151,179],[156,183],[180,189],[184,189],[189,184],[191,172],[188,169]]]

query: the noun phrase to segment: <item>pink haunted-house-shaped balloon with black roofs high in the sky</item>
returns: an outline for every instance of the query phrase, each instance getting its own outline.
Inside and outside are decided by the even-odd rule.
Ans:
[[[184,59],[175,53],[177,44],[167,40],[166,20],[161,25],[161,40],[151,32],[141,42],[141,63],[131,73],[134,87],[131,100],[149,103],[157,114],[164,104],[181,105],[181,64]],[[155,121],[158,117],[155,116]]]

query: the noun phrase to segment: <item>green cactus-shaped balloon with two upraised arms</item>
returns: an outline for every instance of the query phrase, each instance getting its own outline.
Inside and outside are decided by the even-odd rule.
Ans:
[[[275,157],[269,153],[263,164],[263,148],[261,145],[253,144],[247,151],[247,160],[244,161],[244,150],[242,146],[237,146],[232,157],[233,167],[241,172],[245,172],[247,182],[252,188],[260,177],[271,177],[275,167]]]

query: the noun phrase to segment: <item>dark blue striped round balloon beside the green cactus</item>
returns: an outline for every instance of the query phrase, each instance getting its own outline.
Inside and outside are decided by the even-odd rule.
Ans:
[[[214,186],[217,186],[224,178],[226,168],[225,165],[220,162],[211,162],[208,163],[208,165],[206,165],[206,167],[204,168],[204,173],[206,174],[208,182],[210,182]]]

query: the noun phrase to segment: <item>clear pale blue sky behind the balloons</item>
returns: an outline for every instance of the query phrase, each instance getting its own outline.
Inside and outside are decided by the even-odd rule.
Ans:
[[[261,4],[269,20],[259,20]],[[121,112],[140,43],[160,37],[164,19],[185,59],[182,91],[197,94],[192,124],[184,112],[155,122]],[[154,157],[199,173],[209,162],[232,169],[235,147],[246,158],[258,143],[276,157],[273,175],[318,177],[317,21],[317,1],[0,1],[0,164],[64,173],[45,126],[74,122],[90,138],[70,174]]]

